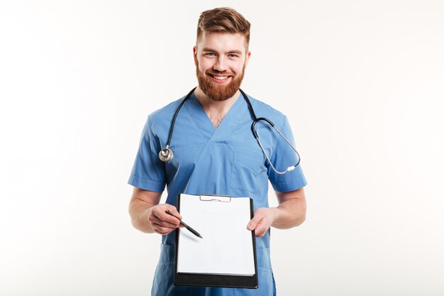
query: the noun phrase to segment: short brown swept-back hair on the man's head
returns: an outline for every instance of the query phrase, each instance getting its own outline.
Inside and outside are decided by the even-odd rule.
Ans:
[[[205,32],[240,33],[245,37],[245,48],[250,44],[250,22],[242,14],[228,7],[211,9],[201,13],[197,23],[196,42]]]

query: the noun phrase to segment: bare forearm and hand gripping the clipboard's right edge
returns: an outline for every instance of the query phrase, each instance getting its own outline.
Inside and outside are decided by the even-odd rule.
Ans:
[[[276,192],[279,206],[259,208],[248,223],[248,230],[255,229],[256,236],[264,236],[270,226],[289,229],[299,226],[305,220],[306,202],[304,188],[290,192]]]

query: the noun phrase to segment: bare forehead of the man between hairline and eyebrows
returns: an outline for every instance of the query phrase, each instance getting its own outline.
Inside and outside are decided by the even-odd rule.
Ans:
[[[205,32],[197,41],[197,48],[211,48],[220,52],[245,50],[245,36],[240,33]]]

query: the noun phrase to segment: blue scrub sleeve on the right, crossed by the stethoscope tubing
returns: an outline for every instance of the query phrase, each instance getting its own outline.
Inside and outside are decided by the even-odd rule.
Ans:
[[[290,143],[294,146],[294,138],[292,133],[292,128],[289,125],[287,116],[284,116],[284,120],[282,124],[276,126],[279,131],[288,139]],[[270,155],[270,160],[274,165],[274,168],[279,172],[286,170],[289,166],[295,165],[298,162],[298,157],[296,152],[292,149],[291,146],[279,135],[279,133],[275,133],[275,146],[272,151],[272,155]],[[297,150],[297,147],[294,146]],[[279,175],[267,163],[268,177],[275,191],[279,192],[289,192],[293,190],[298,190],[301,187],[304,187],[307,182],[304,176],[304,172],[302,172],[301,165],[296,166],[294,170],[291,172],[286,172],[283,175]]]

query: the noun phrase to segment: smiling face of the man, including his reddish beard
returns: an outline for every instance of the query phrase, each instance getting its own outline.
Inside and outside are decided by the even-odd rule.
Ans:
[[[233,97],[249,58],[243,35],[204,32],[194,47],[196,75],[202,92],[218,102]]]

